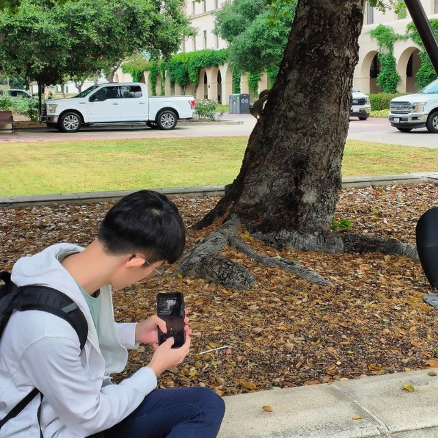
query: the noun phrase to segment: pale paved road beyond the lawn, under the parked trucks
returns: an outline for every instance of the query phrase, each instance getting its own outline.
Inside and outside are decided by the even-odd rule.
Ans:
[[[249,136],[256,120],[250,114],[224,114],[223,121],[217,123],[181,122],[172,131],[159,131],[140,125],[133,127],[87,127],[78,133],[69,134],[55,129],[34,128],[16,129],[14,133],[1,133],[2,142],[44,142],[68,140],[98,140],[104,138],[177,138],[177,137],[214,137]],[[348,138],[377,143],[402,144],[404,146],[438,148],[438,136],[426,129],[415,129],[402,133],[391,127],[385,118],[368,120],[350,120]]]

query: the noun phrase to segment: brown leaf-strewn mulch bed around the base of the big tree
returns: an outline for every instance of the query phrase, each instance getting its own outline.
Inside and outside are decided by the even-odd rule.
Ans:
[[[437,186],[429,183],[346,189],[340,192],[335,219],[351,220],[356,233],[415,243],[415,224],[437,198]],[[175,199],[188,227],[217,201]],[[88,244],[109,207],[0,209],[0,268],[10,269],[18,257],[56,242]],[[207,232],[189,231],[187,248]],[[179,278],[173,266],[164,278],[114,292],[119,321],[154,313],[157,292],[185,294],[192,349],[183,364],[162,374],[161,387],[205,385],[230,395],[438,366],[438,310],[423,302],[430,287],[417,261],[380,253],[274,250],[244,230],[242,238],[260,253],[300,261],[332,284],[311,285],[226,248],[223,255],[257,276],[254,289],[237,291]],[[146,365],[150,357],[149,346],[131,352],[116,381]]]

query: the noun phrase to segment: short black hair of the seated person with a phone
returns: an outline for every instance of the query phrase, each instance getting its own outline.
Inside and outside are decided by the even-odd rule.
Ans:
[[[185,245],[185,227],[175,203],[152,190],[120,199],[103,219],[98,240],[109,253],[144,255],[149,263],[174,263]]]

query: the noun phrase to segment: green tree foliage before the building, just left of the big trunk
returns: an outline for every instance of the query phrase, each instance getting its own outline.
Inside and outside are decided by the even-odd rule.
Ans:
[[[277,70],[283,57],[296,0],[234,0],[216,14],[215,33],[229,44],[233,68],[248,73]]]

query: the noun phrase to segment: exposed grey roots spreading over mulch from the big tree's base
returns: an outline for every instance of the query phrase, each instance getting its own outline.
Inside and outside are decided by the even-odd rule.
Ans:
[[[257,253],[237,237],[240,220],[231,216],[214,233],[190,250],[179,266],[183,276],[196,276],[232,289],[251,289],[256,283],[255,276],[244,266],[218,255],[225,246],[234,246],[238,251],[265,266],[279,266],[287,272],[317,285],[329,285],[330,281],[305,268],[305,266],[282,257],[268,257]],[[275,248],[294,248],[305,251],[326,253],[383,253],[418,260],[417,248],[394,239],[378,239],[350,233],[329,233],[327,235],[300,235],[296,232],[282,231],[275,234],[255,233],[254,237]]]

